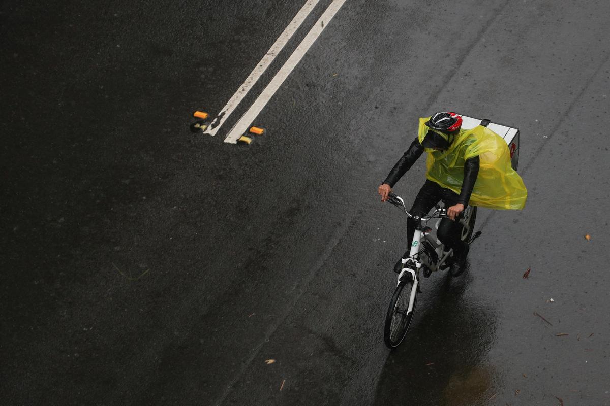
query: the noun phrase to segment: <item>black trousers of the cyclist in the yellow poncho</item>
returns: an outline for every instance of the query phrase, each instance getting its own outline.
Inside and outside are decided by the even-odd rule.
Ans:
[[[412,214],[426,215],[439,201],[444,201],[445,206],[450,207],[458,203],[459,195],[450,189],[441,187],[438,183],[426,180],[422,186],[411,208]],[[413,243],[413,233],[415,233],[415,220],[409,217],[407,221],[407,235],[409,236],[409,245],[407,252],[411,250]],[[439,229],[436,235],[439,240],[449,248],[453,248],[454,254],[460,254],[465,250],[466,244],[460,239],[462,233],[462,225],[451,219],[441,219]]]

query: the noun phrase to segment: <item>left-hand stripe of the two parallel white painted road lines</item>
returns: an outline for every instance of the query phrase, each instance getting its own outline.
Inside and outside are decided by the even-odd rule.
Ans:
[[[203,131],[204,134],[216,135],[220,127],[223,125],[224,121],[231,116],[233,110],[237,108],[240,102],[242,102],[243,98],[246,97],[246,94],[250,91],[250,89],[254,86],[254,83],[259,80],[260,76],[264,74],[267,70],[271,62],[278,56],[279,52],[282,51],[285,44],[288,43],[292,35],[299,29],[303,21],[307,18],[309,13],[314,10],[314,7],[320,2],[320,0],[307,0],[307,2],[301,7],[298,13],[296,13],[295,18],[290,21],[290,24],[284,29],[284,32],[278,37],[278,39],[273,43],[273,45],[267,51],[267,54],[257,63],[256,68],[250,72],[249,76],[246,78],[245,82],[239,86],[239,89],[235,92],[231,100],[229,100],[226,105],[223,107],[223,110],[218,113],[216,118],[212,121],[212,124],[207,127],[206,131]]]

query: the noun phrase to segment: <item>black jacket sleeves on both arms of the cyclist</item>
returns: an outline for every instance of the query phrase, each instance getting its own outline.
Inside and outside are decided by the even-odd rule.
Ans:
[[[383,183],[387,183],[390,187],[394,185],[403,177],[407,170],[411,169],[415,161],[422,156],[424,147],[420,144],[419,139],[416,137],[411,146],[404,153],[404,155],[398,159],[398,162],[394,165],[390,173],[388,173],[386,180]],[[472,189],[475,187],[476,177],[479,174],[479,157],[466,159],[464,162],[464,181],[462,182],[462,189],[459,194],[458,203],[462,205],[468,205],[470,201],[470,195],[472,195]]]

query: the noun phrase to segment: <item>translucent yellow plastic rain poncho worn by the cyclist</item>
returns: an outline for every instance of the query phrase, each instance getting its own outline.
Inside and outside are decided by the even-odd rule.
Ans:
[[[425,125],[429,118],[420,118],[420,142],[429,130]],[[464,181],[464,161],[479,156],[479,174],[470,204],[489,209],[523,209],[528,191],[519,173],[511,167],[511,153],[504,139],[481,125],[460,130],[454,137],[448,150],[426,148],[426,178],[459,194]]]

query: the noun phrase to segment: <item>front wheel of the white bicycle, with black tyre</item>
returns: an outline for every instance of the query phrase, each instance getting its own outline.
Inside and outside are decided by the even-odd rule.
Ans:
[[[413,306],[409,312],[409,303],[413,296]],[[386,325],[384,326],[384,341],[390,349],[397,348],[404,340],[407,330],[413,320],[415,305],[417,304],[417,289],[413,289],[413,281],[400,282],[394,290],[390,307],[386,313]]]

